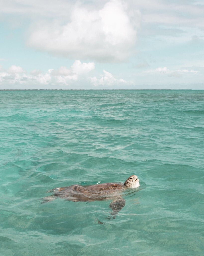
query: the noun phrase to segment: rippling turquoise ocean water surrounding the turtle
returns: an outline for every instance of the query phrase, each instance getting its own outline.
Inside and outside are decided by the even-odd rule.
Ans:
[[[0,108],[1,256],[203,256],[204,90],[0,91]],[[41,204],[132,174],[115,219],[111,200]]]

